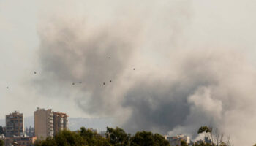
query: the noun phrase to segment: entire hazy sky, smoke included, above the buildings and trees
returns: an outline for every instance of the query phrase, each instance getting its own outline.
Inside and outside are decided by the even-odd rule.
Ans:
[[[214,126],[252,145],[255,5],[0,0],[0,118],[43,107],[129,132]]]

